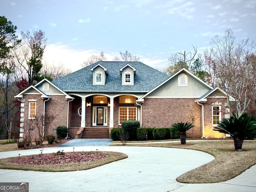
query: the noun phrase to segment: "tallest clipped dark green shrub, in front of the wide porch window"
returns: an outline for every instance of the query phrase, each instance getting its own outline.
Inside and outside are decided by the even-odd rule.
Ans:
[[[122,130],[128,134],[129,140],[136,140],[137,128],[139,127],[139,121],[122,121]]]

